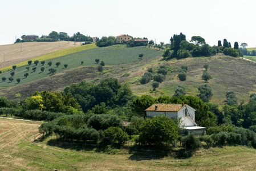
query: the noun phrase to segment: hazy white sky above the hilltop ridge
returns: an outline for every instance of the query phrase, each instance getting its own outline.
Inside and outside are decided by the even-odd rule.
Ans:
[[[182,32],[186,40],[199,35],[210,46],[227,39],[231,46],[256,47],[255,6],[255,0],[1,0],[0,44],[51,31],[99,38],[129,34],[159,44]]]

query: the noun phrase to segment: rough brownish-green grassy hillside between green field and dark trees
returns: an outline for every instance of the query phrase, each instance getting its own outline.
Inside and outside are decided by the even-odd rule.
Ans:
[[[162,57],[155,56],[145,59],[136,59],[134,62],[105,66],[103,73],[97,71],[96,66],[81,66],[63,70],[58,74],[48,76],[47,78],[35,80],[34,82],[18,85],[15,87],[2,87],[1,96],[7,96],[11,99],[23,99],[28,97],[34,91],[63,91],[66,86],[73,83],[79,83],[82,80],[97,83],[105,78],[117,78],[119,82],[128,82],[131,85],[135,95],[172,96],[174,89],[182,84],[186,87],[187,94],[196,96],[198,86],[205,84],[201,79],[203,66],[209,64],[209,74],[213,79],[209,80],[209,85],[213,91],[211,102],[216,104],[225,104],[226,91],[233,90],[237,93],[238,102],[242,100],[249,101],[250,93],[255,92],[255,67],[256,64],[241,58],[232,58],[229,56],[212,56],[212,58],[186,58],[181,60],[161,60]],[[78,60],[80,62],[80,60]],[[95,64],[96,65],[96,64]],[[170,66],[171,71],[166,75],[166,79],[160,84],[156,92],[151,93],[152,82],[141,85],[139,79],[152,67],[157,72],[157,67],[161,65]],[[180,82],[177,79],[178,68],[182,65],[188,66],[187,79]],[[62,70],[62,69],[61,69]],[[125,75],[124,75],[125,74]],[[38,74],[37,74],[38,75]]]

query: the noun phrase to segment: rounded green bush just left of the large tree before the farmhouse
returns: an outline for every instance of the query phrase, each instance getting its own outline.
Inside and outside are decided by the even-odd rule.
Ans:
[[[104,141],[107,143],[124,144],[129,140],[128,134],[119,127],[109,127],[103,131]]]

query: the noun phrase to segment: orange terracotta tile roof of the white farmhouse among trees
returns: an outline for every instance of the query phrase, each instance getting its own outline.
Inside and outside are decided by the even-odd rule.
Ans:
[[[184,104],[183,107],[185,107]],[[157,106],[157,109],[156,109]],[[183,108],[182,104],[163,104],[163,103],[156,103],[153,104],[151,107],[145,109],[145,111],[158,111],[158,112],[178,112],[180,109]]]

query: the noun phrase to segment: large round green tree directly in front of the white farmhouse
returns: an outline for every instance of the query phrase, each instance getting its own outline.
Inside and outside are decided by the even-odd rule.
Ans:
[[[179,128],[174,120],[165,116],[146,118],[136,143],[160,146],[170,143],[178,137]]]

